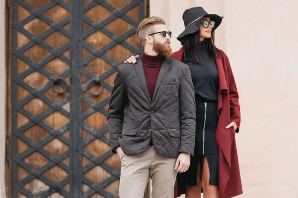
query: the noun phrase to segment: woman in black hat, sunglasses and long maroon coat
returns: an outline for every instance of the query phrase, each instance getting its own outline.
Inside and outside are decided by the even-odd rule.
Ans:
[[[234,139],[240,125],[238,93],[228,58],[214,43],[223,18],[202,7],[187,9],[185,30],[177,37],[183,47],[171,56],[189,66],[196,97],[194,157],[188,171],[177,176],[178,196],[186,193],[186,198],[200,198],[201,190],[204,198],[242,194]]]

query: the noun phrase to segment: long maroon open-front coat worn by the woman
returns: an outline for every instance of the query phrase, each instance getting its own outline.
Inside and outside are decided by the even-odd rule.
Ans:
[[[183,48],[174,52],[171,56],[182,61]],[[219,198],[232,198],[241,195],[242,184],[239,171],[235,132],[233,127],[226,129],[230,122],[235,122],[240,128],[240,106],[235,79],[226,54],[216,56],[216,64],[219,74],[219,99],[218,117],[219,123],[216,131],[216,143],[219,147]],[[185,185],[175,184],[175,196],[177,198],[185,193]]]

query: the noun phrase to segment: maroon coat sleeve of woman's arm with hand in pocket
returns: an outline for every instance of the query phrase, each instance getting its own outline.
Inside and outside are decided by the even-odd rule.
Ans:
[[[240,129],[240,105],[239,105],[239,96],[236,87],[236,82],[234,79],[234,75],[229,63],[229,60],[226,56],[225,60],[226,68],[227,68],[227,76],[228,76],[228,86],[229,86],[229,101],[230,101],[230,120],[231,122],[235,122],[237,125],[236,133],[239,132]]]

